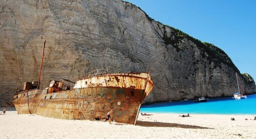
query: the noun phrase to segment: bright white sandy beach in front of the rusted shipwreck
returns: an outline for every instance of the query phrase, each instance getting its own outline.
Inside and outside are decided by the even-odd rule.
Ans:
[[[179,114],[154,113],[152,116],[139,116],[140,125],[135,126],[115,122],[109,124],[100,121],[62,120],[33,114],[18,115],[15,110],[8,109],[6,115],[0,115],[0,138],[256,138],[256,120],[249,120],[254,119],[254,115],[192,114],[191,116],[179,117]],[[231,117],[235,118],[235,121],[231,121]],[[211,129],[197,129],[196,126]]]

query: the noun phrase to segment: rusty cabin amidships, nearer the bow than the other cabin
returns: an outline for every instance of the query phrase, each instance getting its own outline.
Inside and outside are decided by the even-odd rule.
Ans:
[[[55,92],[70,90],[70,86],[68,86],[64,81],[61,82],[61,81],[52,80],[49,87],[46,89],[47,89],[46,93],[55,93]]]

